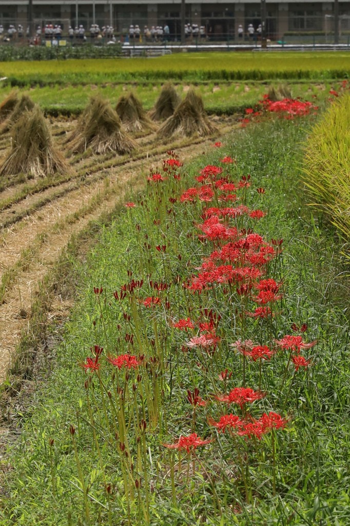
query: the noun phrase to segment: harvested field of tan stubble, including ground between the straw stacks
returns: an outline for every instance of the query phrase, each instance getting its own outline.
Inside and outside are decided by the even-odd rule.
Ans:
[[[223,136],[239,127],[240,116],[211,117]],[[51,118],[50,132],[57,150],[69,149],[65,140],[77,126],[75,119]],[[135,140],[132,154],[115,155],[91,150],[68,154],[66,173],[27,179],[23,174],[2,175],[0,180],[1,286],[0,286],[0,378],[5,379],[40,282],[57,262],[72,235],[89,222],[108,215],[123,196],[143,185],[145,171],[157,167],[167,150],[176,148],[183,158],[198,155],[212,142],[209,137],[159,140],[156,132]],[[11,137],[0,139],[0,166],[10,148]],[[65,307],[64,307],[65,308]]]

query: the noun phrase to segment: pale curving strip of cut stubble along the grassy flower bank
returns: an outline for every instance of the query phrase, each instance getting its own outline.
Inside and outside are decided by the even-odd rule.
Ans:
[[[231,131],[232,124],[232,121],[225,119],[218,136]],[[0,305],[0,382],[5,379],[21,336],[28,330],[31,306],[40,281],[55,265],[71,236],[84,230],[90,221],[98,220],[102,214],[114,210],[130,188],[140,189],[150,166],[160,165],[166,150],[172,146],[164,145],[161,153],[150,155],[152,143],[154,146],[153,137],[145,137],[139,142],[141,153],[138,153],[137,160],[126,160],[122,166],[108,166],[118,163],[118,159],[77,159],[73,163],[73,170],[80,170],[87,165],[95,176],[88,174],[83,180],[73,177],[66,183],[49,187],[40,193],[28,193],[18,203],[0,211],[2,225],[8,224],[11,217],[18,219],[11,226],[2,228],[0,238],[0,279],[3,285],[3,303]],[[187,161],[201,154],[212,143],[212,138],[197,139],[192,144],[187,141],[176,151],[182,160]],[[4,189],[0,193],[0,200],[11,197],[19,188],[20,185]],[[66,305],[61,307],[67,310]]]

